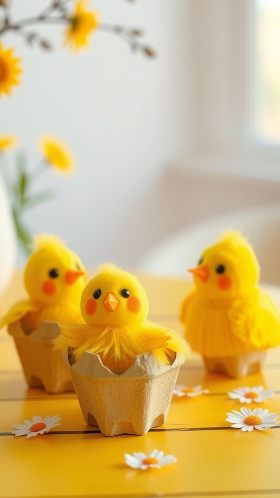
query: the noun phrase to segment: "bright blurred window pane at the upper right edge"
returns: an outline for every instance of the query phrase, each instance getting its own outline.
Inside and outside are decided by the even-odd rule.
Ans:
[[[254,127],[262,142],[280,145],[280,1],[255,0]]]

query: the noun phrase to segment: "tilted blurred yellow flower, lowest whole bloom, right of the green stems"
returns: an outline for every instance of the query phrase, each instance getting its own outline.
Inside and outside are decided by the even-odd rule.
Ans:
[[[39,139],[40,150],[45,159],[61,173],[72,173],[75,160],[68,147],[55,137],[43,135]]]

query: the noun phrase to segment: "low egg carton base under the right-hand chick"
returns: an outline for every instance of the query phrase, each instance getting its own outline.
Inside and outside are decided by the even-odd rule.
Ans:
[[[265,364],[266,351],[253,351],[244,355],[224,358],[203,357],[205,367],[210,373],[222,373],[229,377],[240,378],[260,372]]]

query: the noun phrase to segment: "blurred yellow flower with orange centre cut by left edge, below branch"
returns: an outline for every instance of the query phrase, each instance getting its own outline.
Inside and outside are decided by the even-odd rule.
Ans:
[[[0,43],[0,96],[10,94],[11,87],[19,85],[18,75],[22,69],[18,66],[20,59],[13,57],[13,49],[3,47]]]

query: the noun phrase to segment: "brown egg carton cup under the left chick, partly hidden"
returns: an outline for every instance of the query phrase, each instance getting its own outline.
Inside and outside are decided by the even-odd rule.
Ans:
[[[49,394],[74,391],[71,375],[53,350],[52,340],[60,334],[57,322],[42,322],[37,330],[26,335],[20,321],[8,326],[29,387],[41,387]]]

